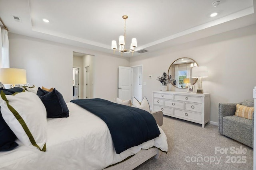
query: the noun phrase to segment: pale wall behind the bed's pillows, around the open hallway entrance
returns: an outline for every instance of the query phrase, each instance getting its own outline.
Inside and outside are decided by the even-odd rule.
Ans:
[[[129,59],[97,51],[9,33],[10,67],[27,71],[27,82],[55,87],[66,102],[72,100],[73,51],[94,55],[94,96],[113,101],[118,96],[118,66],[129,66]]]

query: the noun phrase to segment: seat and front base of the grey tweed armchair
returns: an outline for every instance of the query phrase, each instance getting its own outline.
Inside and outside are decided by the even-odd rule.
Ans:
[[[223,117],[223,135],[253,147],[252,120],[238,116]]]

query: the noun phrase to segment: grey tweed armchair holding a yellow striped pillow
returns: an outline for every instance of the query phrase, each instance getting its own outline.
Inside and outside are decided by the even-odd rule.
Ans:
[[[245,100],[240,105],[254,107],[254,102]],[[234,116],[236,103],[220,103],[218,108],[219,133],[253,148],[254,114],[252,120]]]

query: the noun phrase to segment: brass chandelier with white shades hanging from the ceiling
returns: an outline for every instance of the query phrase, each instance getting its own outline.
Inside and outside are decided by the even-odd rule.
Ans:
[[[123,56],[123,53],[134,53],[135,51],[135,47],[137,47],[137,39],[136,38],[132,38],[132,43],[131,43],[131,46],[130,46],[130,49],[126,49],[125,47],[125,41],[126,41],[126,19],[128,18],[128,16],[122,16],[122,18],[124,19],[124,35],[120,35],[119,36],[119,50],[116,50],[117,49],[117,45],[116,45],[116,41],[113,40],[112,41],[112,45],[111,45],[111,48],[114,50],[114,54],[115,54],[115,51],[120,51],[121,52],[121,56]]]

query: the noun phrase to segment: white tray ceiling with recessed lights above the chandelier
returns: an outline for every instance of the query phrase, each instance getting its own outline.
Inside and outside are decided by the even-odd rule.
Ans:
[[[0,0],[0,17],[11,33],[106,53],[113,53],[111,41],[124,34],[123,15],[128,16],[126,44],[136,37],[137,51],[156,51],[256,23],[256,0],[220,0],[213,7],[215,1]],[[212,12],[218,15],[212,18]]]

